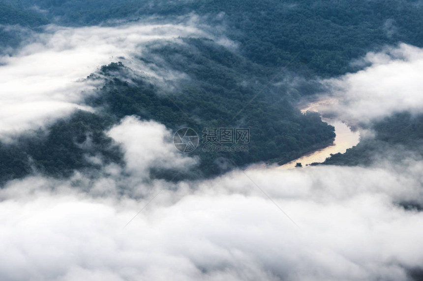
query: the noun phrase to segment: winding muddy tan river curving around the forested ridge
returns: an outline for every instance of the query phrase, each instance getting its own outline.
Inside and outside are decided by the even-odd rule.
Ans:
[[[316,102],[310,102],[301,107],[302,112],[306,111],[316,111],[320,112],[320,109],[323,107],[330,106],[334,103],[335,100],[326,99]],[[327,146],[323,149],[315,150],[307,154],[302,155],[300,158],[297,158],[291,162],[288,162],[282,166],[277,167],[278,169],[292,169],[295,165],[300,162],[303,167],[314,163],[314,162],[323,162],[331,154],[335,153],[345,153],[345,151],[355,145],[360,141],[360,132],[352,131],[345,123],[341,122],[336,118],[322,118],[322,120],[333,127],[335,127],[336,137],[332,145]]]

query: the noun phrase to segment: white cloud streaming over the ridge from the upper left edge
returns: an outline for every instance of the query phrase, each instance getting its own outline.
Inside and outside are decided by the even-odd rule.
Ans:
[[[134,65],[130,56],[139,55],[154,40],[213,37],[194,24],[195,20],[178,25],[47,26],[13,56],[0,57],[0,139],[7,141],[23,130],[43,127],[75,108],[90,110],[81,102],[96,85],[81,78],[103,64],[122,60],[143,75],[154,76],[141,64]]]

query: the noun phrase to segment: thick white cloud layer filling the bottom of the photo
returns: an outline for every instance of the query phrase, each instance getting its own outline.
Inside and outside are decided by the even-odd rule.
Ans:
[[[17,180],[0,191],[0,279],[406,281],[423,264],[423,213],[395,203],[422,198],[422,168],[245,171],[300,229],[238,171],[155,181],[143,200]]]

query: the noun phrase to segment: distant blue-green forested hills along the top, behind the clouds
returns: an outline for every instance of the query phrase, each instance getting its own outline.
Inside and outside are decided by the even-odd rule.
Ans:
[[[305,74],[355,71],[350,62],[386,44],[423,47],[423,7],[419,1],[279,0],[1,0],[10,6],[42,9],[40,17],[69,26],[152,15],[172,18],[195,13],[205,23],[224,23],[243,55],[263,65]],[[33,13],[33,9],[30,10]],[[15,15],[14,17],[19,17]],[[28,20],[23,17],[23,23]],[[13,21],[11,24],[18,24]]]

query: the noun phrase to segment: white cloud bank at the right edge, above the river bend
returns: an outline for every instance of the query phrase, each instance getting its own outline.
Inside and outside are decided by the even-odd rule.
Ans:
[[[406,44],[368,53],[357,73],[324,81],[339,100],[334,109],[342,119],[367,122],[393,112],[423,111],[423,49]]]

